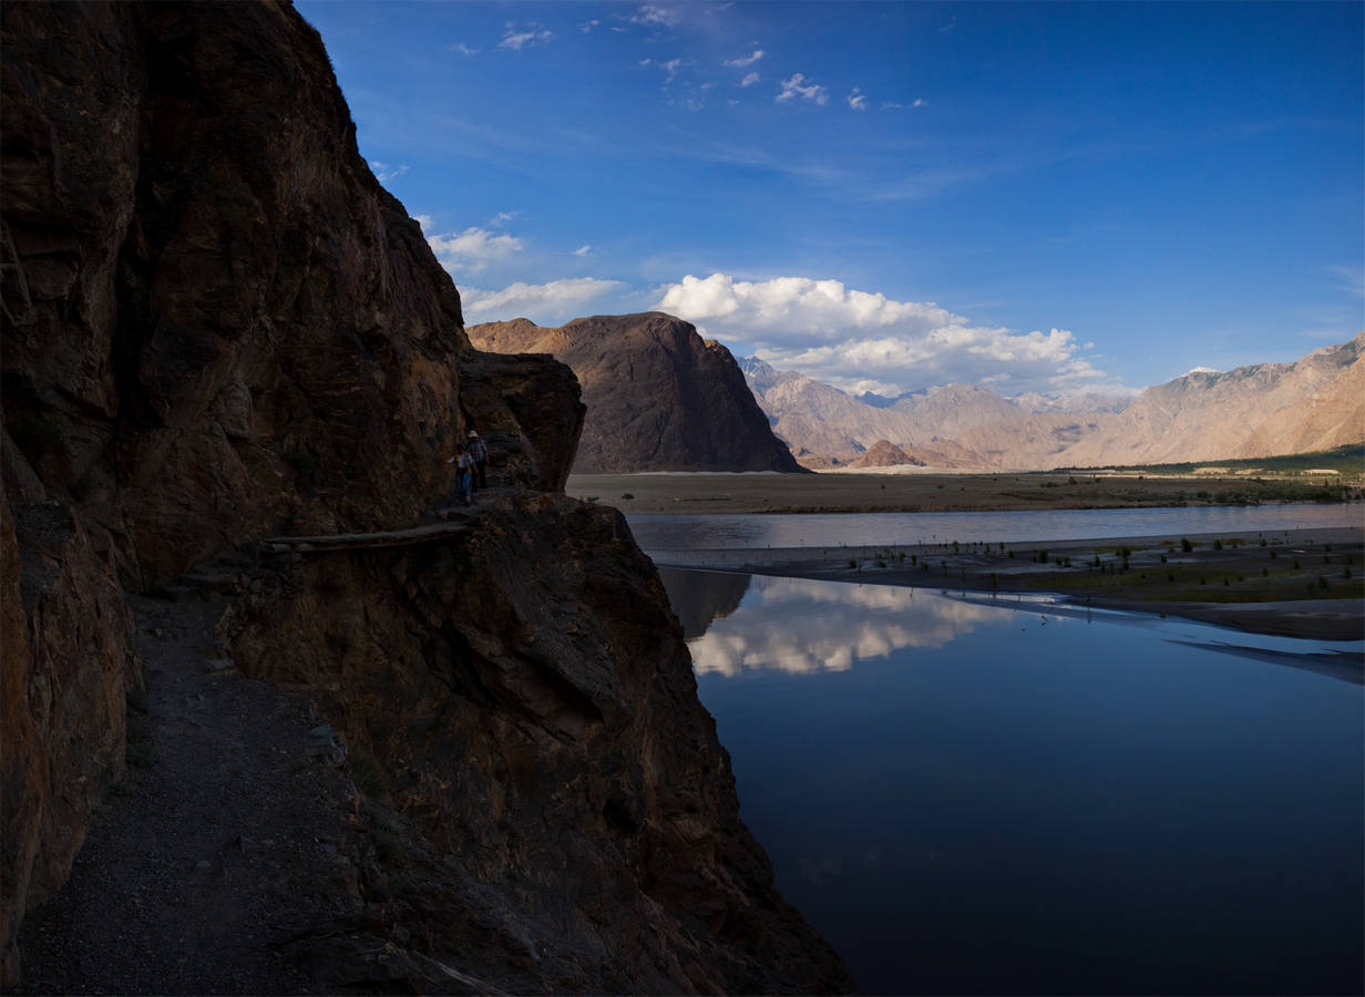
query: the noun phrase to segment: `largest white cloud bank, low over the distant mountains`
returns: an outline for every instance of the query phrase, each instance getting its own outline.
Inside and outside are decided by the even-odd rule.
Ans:
[[[973,325],[934,303],[897,301],[835,280],[726,274],[684,277],[655,306],[749,344],[778,370],[849,391],[915,391],[954,381],[991,383],[1006,394],[1057,393],[1103,378],[1067,330],[1020,331]]]

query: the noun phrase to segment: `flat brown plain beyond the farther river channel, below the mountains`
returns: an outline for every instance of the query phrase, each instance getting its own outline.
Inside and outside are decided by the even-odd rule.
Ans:
[[[1126,509],[1306,501],[1321,484],[1246,477],[1103,473],[778,475],[650,472],[571,475],[565,491],[624,513],[906,513]],[[1334,496],[1340,488],[1332,490]]]

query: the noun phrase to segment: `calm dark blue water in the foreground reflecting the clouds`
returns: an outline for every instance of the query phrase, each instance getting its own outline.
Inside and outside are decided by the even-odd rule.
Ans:
[[[1361,992],[1361,642],[661,573],[743,817],[865,990]]]

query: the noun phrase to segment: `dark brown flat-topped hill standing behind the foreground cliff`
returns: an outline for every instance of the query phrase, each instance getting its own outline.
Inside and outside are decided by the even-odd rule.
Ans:
[[[551,353],[583,385],[573,471],[801,471],[730,351],[662,312],[595,315],[557,329],[527,319],[471,326],[479,349]]]

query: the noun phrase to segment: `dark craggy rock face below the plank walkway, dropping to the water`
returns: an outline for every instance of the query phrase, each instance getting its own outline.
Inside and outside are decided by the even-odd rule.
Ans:
[[[844,990],[738,820],[628,536],[616,510],[527,498],[440,544],[306,558],[222,630],[248,674],[325,690],[445,857],[374,891],[430,957],[516,993]]]

